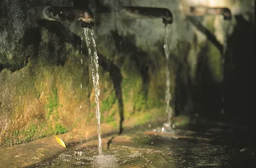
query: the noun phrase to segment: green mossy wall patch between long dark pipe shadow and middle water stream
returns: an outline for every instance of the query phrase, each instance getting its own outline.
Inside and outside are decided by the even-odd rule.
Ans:
[[[148,58],[153,55],[163,54],[162,52],[156,52],[149,54]],[[125,104],[131,104],[133,110],[129,108],[129,114],[131,112],[141,112],[144,110],[150,110],[151,108],[156,108],[162,106],[162,99],[164,95],[160,91],[160,88],[164,86],[165,81],[165,67],[163,65],[164,58],[154,61],[154,65],[149,65],[148,75],[150,81],[148,83],[143,83],[141,73],[139,72],[139,67],[135,64],[134,60],[131,58],[125,58],[125,61],[121,68],[121,73],[123,75],[123,81],[121,83],[123,91],[123,101]],[[155,67],[160,67],[160,69],[154,69]],[[164,77],[162,77],[164,75]],[[152,81],[152,82],[151,82]],[[148,88],[145,88],[148,87]],[[164,92],[164,91],[163,91]]]

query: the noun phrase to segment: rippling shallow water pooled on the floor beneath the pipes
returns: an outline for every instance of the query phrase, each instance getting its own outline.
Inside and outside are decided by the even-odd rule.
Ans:
[[[242,150],[233,142],[247,145],[238,132],[226,127],[190,127],[165,132],[193,136],[194,139],[172,138],[159,134],[141,134],[137,131],[128,134],[131,142],[121,137],[103,148],[104,155],[96,153],[96,141],[88,142],[82,149],[69,149],[57,157],[40,163],[36,167],[247,167],[255,166],[252,149]],[[201,128],[201,129],[200,129]],[[214,134],[208,134],[214,130]],[[216,131],[215,131],[216,130]],[[160,132],[161,133],[161,132]],[[212,133],[212,132],[210,132]],[[220,134],[222,133],[222,134]],[[233,138],[232,136],[238,136]],[[214,139],[205,141],[203,137]],[[221,136],[216,138],[216,136]],[[111,137],[103,139],[107,142]],[[224,140],[225,143],[222,141]],[[105,144],[106,145],[106,144]],[[250,151],[251,150],[251,151]]]

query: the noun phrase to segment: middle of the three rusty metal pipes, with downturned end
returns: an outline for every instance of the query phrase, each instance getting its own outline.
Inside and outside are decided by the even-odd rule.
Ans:
[[[121,7],[119,11],[121,17],[127,19],[147,19],[162,18],[164,24],[172,24],[172,12],[166,8],[159,7]]]

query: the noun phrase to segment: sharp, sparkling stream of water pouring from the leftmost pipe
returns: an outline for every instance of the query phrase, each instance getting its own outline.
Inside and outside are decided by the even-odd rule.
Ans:
[[[101,126],[100,126],[100,103],[98,97],[100,96],[100,88],[99,88],[99,75],[98,75],[98,54],[96,49],[96,42],[94,39],[94,30],[90,28],[84,28],[84,35],[86,36],[86,46],[88,48],[88,54],[90,57],[90,65],[92,70],[92,81],[94,85],[95,91],[95,114],[97,118],[97,132],[98,132],[98,154],[102,155],[102,145],[101,145]],[[90,38],[89,38],[90,36]],[[91,40],[92,39],[92,43]],[[91,50],[91,46],[93,48],[93,54]]]

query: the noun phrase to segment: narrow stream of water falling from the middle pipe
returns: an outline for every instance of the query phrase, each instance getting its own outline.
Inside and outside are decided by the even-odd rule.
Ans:
[[[170,107],[170,99],[172,96],[170,95],[170,69],[169,69],[169,56],[170,56],[170,35],[172,34],[171,32],[171,27],[170,24],[167,24],[165,26],[164,30],[164,53],[166,56],[166,91],[165,91],[165,103],[166,103],[166,113],[167,113],[167,123],[164,124],[164,126],[168,129],[172,128],[172,108]]]

